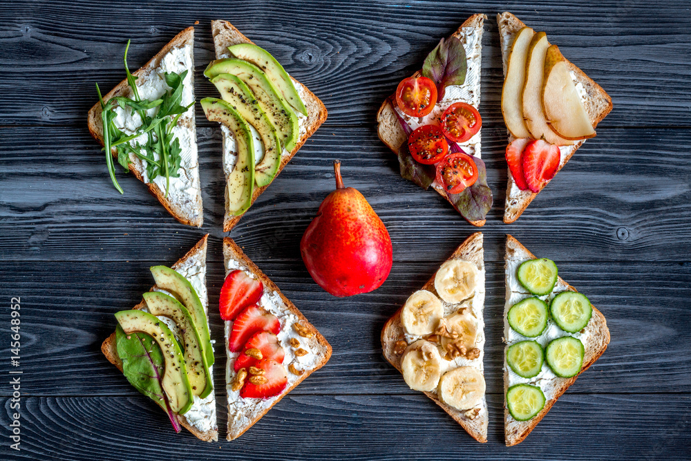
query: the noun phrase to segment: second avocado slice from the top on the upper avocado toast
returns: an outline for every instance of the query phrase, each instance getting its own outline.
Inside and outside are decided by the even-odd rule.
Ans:
[[[299,137],[298,117],[274,85],[269,82],[263,70],[247,61],[228,58],[211,61],[204,71],[204,75],[208,78],[220,74],[237,75],[249,86],[259,106],[276,127],[283,147],[286,151],[292,152]]]

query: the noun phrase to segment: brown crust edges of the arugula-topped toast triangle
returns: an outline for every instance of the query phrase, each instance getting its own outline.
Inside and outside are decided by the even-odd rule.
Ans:
[[[182,32],[178,33],[178,35],[173,37],[173,39],[169,41],[166,44],[166,46],[161,48],[161,50],[158,53],[156,53],[151,59],[149,59],[149,62],[146,62],[144,66],[140,67],[138,70],[133,72],[132,75],[135,75],[136,77],[144,77],[144,75],[158,67],[164,55],[167,55],[173,48],[184,46],[186,44],[191,44],[192,46],[194,44],[193,27],[188,27],[182,30]],[[191,75],[191,79],[192,85],[194,85],[194,75]],[[129,84],[127,83],[127,79],[124,79],[122,80],[122,82],[117,84],[115,88],[113,88],[111,91],[108,91],[108,93],[104,95],[103,100],[104,102],[107,102],[113,96],[124,96],[128,92]],[[89,109],[86,119],[88,124],[88,131],[95,138],[95,140],[100,142],[101,146],[103,146],[103,122],[101,120],[101,113],[101,103],[97,102],[91,107],[91,109]],[[192,127],[192,129],[196,129],[196,127]],[[117,151],[115,151],[115,149],[113,149],[113,157],[117,158]],[[130,168],[130,171],[138,180],[144,182],[144,176],[142,176],[141,171],[138,171],[138,169],[134,169],[132,167]],[[182,207],[179,207],[177,204],[171,203],[169,199],[165,197],[164,191],[161,191],[158,187],[156,187],[153,182],[144,182],[144,184],[149,189],[149,193],[158,199],[161,205],[163,205],[163,207],[168,210],[168,212],[173,216],[173,218],[176,218],[182,224],[195,227],[202,226],[202,224],[204,223],[204,212],[202,208],[201,194],[198,196],[198,203],[194,204],[193,206],[194,214],[196,217],[189,218],[189,213],[186,213],[185,210]]]

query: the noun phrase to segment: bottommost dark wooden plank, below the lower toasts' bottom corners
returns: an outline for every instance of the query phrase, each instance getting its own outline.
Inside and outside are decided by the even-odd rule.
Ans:
[[[6,398],[0,402],[7,408]],[[616,452],[623,460],[683,460],[691,425],[689,395],[567,393],[526,442],[506,447],[498,443],[501,396],[490,396],[490,443],[479,446],[424,395],[290,394],[244,438],[209,444],[170,431],[165,415],[139,397],[28,397],[23,404],[26,442],[10,459],[553,460],[552,444],[558,444],[564,459],[612,459]],[[114,433],[111,424],[123,414],[136,420],[119,424]],[[7,415],[0,414],[4,440],[7,424]],[[651,427],[670,430],[658,434]],[[355,439],[353,433],[367,437]],[[294,455],[286,457],[282,447]]]

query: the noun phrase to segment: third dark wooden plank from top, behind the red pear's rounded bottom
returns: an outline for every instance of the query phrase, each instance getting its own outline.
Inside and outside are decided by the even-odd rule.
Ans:
[[[210,241],[209,254],[216,250]],[[247,248],[245,248],[247,250]],[[453,251],[453,249],[451,250]],[[100,353],[111,334],[117,310],[129,309],[149,290],[149,267],[169,261],[77,263],[72,281],[57,292],[64,263],[6,263],[0,280],[12,278],[12,292],[0,289],[0,299],[21,296],[22,331],[29,341],[23,359],[30,364],[22,379],[31,395],[137,395],[126,379]],[[579,377],[569,393],[691,392],[691,318],[685,303],[691,299],[690,263],[569,263],[557,260],[560,274],[607,317],[612,342],[603,357]],[[328,339],[334,349],[322,370],[294,393],[370,394],[412,393],[399,373],[381,355],[379,332],[384,322],[418,290],[437,263],[395,264],[392,274],[372,294],[343,301],[325,294],[301,263],[265,261],[261,269]],[[209,305],[218,305],[223,263],[209,263]],[[502,393],[503,265],[487,265],[485,368],[489,393]],[[104,284],[111,280],[112,284]],[[115,281],[117,280],[117,283]],[[212,337],[223,337],[218,310],[209,313]],[[357,335],[354,335],[357,332]],[[217,361],[225,361],[223,346]],[[32,346],[35,345],[35,346]],[[2,344],[0,357],[10,355]],[[75,368],[75,364],[80,366]],[[224,366],[216,367],[216,384],[223,386]],[[659,379],[660,375],[664,379]],[[634,377],[632,379],[632,377]],[[651,386],[652,379],[656,382]],[[99,385],[95,388],[93,380]],[[334,383],[339,383],[334,386]],[[59,391],[56,391],[59,390]],[[9,395],[0,386],[0,395]]]

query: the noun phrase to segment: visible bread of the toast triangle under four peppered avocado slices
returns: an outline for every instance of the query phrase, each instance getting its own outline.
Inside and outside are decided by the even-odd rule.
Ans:
[[[216,59],[231,57],[231,54],[228,50],[229,46],[241,43],[254,44],[254,42],[245,37],[245,35],[243,35],[231,23],[220,19],[211,21],[211,35],[214,37]],[[290,162],[290,160],[295,156],[297,151],[299,151],[302,145],[305,144],[307,138],[310,138],[310,136],[314,134],[316,129],[318,129],[319,126],[321,126],[321,124],[325,122],[327,117],[326,107],[324,106],[323,102],[321,102],[321,100],[319,100],[319,98],[316,97],[314,93],[312,93],[312,91],[307,89],[307,86],[301,84],[293,77],[290,78],[293,80],[301,97],[301,100],[303,100],[303,104],[305,104],[305,108],[307,108],[307,120],[305,122],[305,132],[301,133],[300,139],[296,143],[292,152],[288,153],[287,155],[285,155],[285,153],[281,155],[281,164],[278,167],[278,171],[276,171],[276,176],[278,176],[278,174],[281,173],[281,171],[283,171],[285,165],[288,162]],[[225,145],[227,144],[229,137],[231,136],[232,134],[229,133],[229,131],[223,131],[224,151]],[[226,172],[227,175],[229,175],[232,169],[228,170],[229,171]],[[276,179],[276,176],[274,176],[274,180]],[[254,201],[257,199],[257,197],[260,196],[263,193],[263,191],[265,191],[266,188],[269,187],[269,185],[254,188],[254,191],[252,193],[252,204],[254,204]],[[234,216],[228,212],[227,198],[225,203],[225,210],[225,217],[223,218],[223,232],[230,232],[230,229],[235,227],[240,218],[242,218],[242,215]]]

